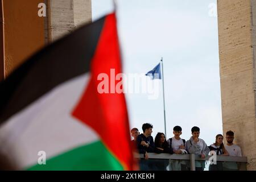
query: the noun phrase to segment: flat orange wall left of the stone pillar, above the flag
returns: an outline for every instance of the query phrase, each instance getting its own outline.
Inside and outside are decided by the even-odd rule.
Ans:
[[[4,0],[5,75],[44,46],[44,17],[38,16],[43,0]]]

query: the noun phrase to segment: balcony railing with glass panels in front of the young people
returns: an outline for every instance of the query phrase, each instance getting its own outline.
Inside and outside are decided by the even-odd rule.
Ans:
[[[142,159],[140,162],[147,162],[144,160],[143,154],[135,154],[135,158]],[[207,156],[205,159],[201,159],[199,155],[195,154],[155,154],[155,153],[148,153],[148,161],[150,164],[156,163],[166,163],[166,170],[180,170],[180,168],[170,168],[175,161],[177,164],[179,162],[183,162],[183,165],[187,166],[188,170],[196,171],[196,163],[204,163],[205,167],[204,170],[214,170],[213,168],[209,168],[210,162],[216,162],[218,167],[217,170],[240,170],[246,171],[246,164],[247,164],[247,157],[237,157],[237,156],[221,156],[216,155],[215,158],[213,156]],[[216,164],[215,163],[215,164]],[[147,164],[146,164],[147,165]],[[214,167],[212,163],[211,167]],[[222,168],[223,167],[223,168]],[[182,170],[182,169],[181,169]]]

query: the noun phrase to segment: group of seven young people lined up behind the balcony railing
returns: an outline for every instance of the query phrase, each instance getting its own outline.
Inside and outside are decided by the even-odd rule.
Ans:
[[[205,141],[199,138],[200,129],[197,126],[192,127],[192,137],[189,140],[180,138],[182,129],[180,126],[174,127],[174,137],[166,140],[164,133],[156,134],[155,140],[151,136],[153,126],[150,123],[142,125],[143,133],[139,134],[137,128],[131,129],[131,136],[134,138],[131,142],[137,147],[140,154],[144,154],[144,159],[140,160],[142,170],[165,170],[169,166],[170,170],[190,170],[190,165],[186,160],[148,160],[148,152],[167,153],[167,154],[195,154],[200,155],[205,159],[207,155],[225,155],[225,156],[242,156],[241,147],[233,143],[233,131],[226,132],[226,145],[223,143],[223,135],[216,135],[216,140],[210,146],[207,146]],[[205,161],[196,160],[196,171],[203,171]],[[221,163],[210,164],[209,170],[237,170],[237,163]]]

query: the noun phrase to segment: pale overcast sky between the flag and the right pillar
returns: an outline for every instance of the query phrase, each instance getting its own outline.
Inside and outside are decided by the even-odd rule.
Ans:
[[[147,73],[163,57],[167,138],[172,128],[200,127],[212,144],[222,134],[216,0],[117,0],[124,73]],[[93,20],[113,11],[112,0],[92,0]],[[162,86],[162,80],[159,81]],[[162,87],[161,87],[162,88]],[[164,133],[163,96],[126,94],[130,127],[154,125]]]

